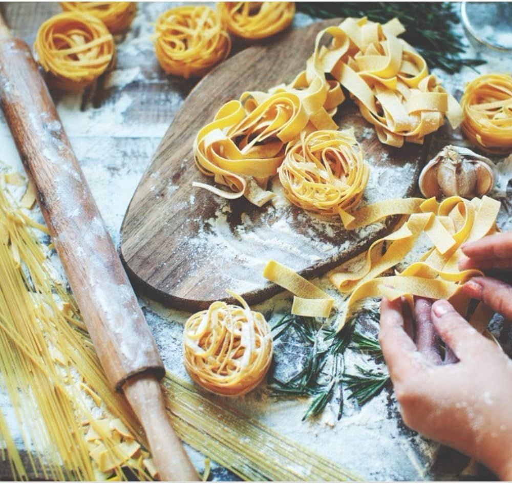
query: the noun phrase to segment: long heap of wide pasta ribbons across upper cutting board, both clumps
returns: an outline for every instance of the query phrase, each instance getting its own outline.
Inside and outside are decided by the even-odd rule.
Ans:
[[[306,69],[293,82],[268,92],[242,94],[240,100],[224,104],[214,121],[199,131],[194,142],[196,164],[229,191],[204,183],[195,186],[228,199],[244,195],[258,206],[266,203],[273,197],[266,191],[268,180],[287,152],[294,153],[292,146],[315,131],[337,130],[332,116],[345,100],[342,86],[375,126],[382,143],[422,143],[445,116],[454,127],[458,125],[459,104],[429,75],[425,60],[397,38],[403,31],[397,19],[381,25],[365,17],[347,18],[319,32]],[[282,170],[288,172],[289,164]],[[364,170],[353,178],[362,174]],[[283,175],[282,181],[286,179]],[[291,195],[290,190],[286,193]],[[305,198],[317,192],[304,193],[308,195],[301,197],[303,206],[315,206],[314,200]],[[291,199],[298,201],[296,195]]]

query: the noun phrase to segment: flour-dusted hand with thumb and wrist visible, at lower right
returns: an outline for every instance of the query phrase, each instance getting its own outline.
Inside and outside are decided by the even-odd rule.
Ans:
[[[379,341],[404,423],[512,479],[512,361],[447,301],[418,299],[414,316],[415,327],[407,304],[382,299]],[[456,363],[442,361],[439,337]]]

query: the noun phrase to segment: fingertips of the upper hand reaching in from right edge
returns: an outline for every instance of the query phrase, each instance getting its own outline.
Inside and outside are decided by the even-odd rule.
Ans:
[[[461,247],[465,259],[459,269],[512,270],[512,232],[494,234]],[[510,281],[510,275],[507,278]],[[512,320],[512,287],[490,277],[474,277],[463,286],[464,292],[480,299],[505,318]]]

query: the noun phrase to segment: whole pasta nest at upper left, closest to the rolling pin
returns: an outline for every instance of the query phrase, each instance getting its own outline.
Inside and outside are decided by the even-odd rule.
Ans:
[[[51,85],[66,91],[94,82],[115,60],[111,33],[98,18],[63,12],[40,27],[34,42],[41,67]]]

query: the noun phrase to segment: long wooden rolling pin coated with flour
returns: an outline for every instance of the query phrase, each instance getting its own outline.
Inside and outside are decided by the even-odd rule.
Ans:
[[[44,80],[0,14],[0,102],[98,353],[145,430],[162,480],[198,480],[169,424],[165,369]]]

